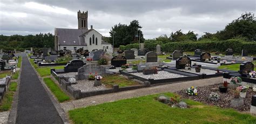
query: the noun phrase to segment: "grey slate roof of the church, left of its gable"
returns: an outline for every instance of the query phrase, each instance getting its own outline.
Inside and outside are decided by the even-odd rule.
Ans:
[[[55,35],[58,36],[59,45],[76,45],[76,46],[86,46],[87,44],[84,41],[84,37],[79,37],[83,33],[89,31],[86,29],[59,29],[56,28]],[[65,43],[63,42],[65,41]],[[75,41],[75,42],[74,42]]]

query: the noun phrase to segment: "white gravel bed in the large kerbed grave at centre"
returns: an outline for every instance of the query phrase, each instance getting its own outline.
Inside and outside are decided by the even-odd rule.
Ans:
[[[167,72],[167,71],[158,71],[157,74],[143,74],[142,72],[130,73],[130,74],[133,74],[133,75],[136,75],[138,77],[145,78],[145,79],[152,78],[152,79],[155,79],[155,80],[157,80],[157,79],[170,79],[170,78],[187,77],[185,75],[170,73],[170,72]]]

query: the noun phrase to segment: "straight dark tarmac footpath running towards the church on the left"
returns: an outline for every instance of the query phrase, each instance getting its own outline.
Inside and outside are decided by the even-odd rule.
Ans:
[[[22,58],[16,123],[63,123],[26,56]]]

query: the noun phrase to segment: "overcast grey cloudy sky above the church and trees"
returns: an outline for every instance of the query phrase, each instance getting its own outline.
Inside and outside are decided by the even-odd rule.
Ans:
[[[88,11],[88,27],[110,36],[115,24],[139,21],[145,39],[177,30],[215,33],[245,12],[256,13],[255,0],[1,0],[0,35],[53,33],[77,29],[77,11]]]

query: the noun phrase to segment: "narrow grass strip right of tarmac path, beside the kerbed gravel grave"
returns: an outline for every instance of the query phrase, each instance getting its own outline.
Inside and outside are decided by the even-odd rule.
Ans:
[[[70,100],[69,96],[66,95],[51,78],[44,78],[44,82],[49,87],[51,92],[55,95],[59,102]]]

